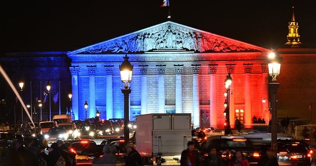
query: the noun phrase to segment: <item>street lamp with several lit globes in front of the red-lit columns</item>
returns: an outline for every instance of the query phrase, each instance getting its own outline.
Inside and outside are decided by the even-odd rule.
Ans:
[[[225,134],[233,134],[232,133],[232,129],[231,129],[231,124],[230,124],[230,110],[229,110],[229,105],[230,105],[230,86],[233,82],[233,79],[231,77],[231,73],[228,73],[228,75],[226,76],[225,79],[225,88],[226,88],[226,92],[224,92],[224,96],[225,96],[225,102],[224,102],[224,106],[225,106],[225,113],[226,113],[226,124],[227,127],[225,128]]]

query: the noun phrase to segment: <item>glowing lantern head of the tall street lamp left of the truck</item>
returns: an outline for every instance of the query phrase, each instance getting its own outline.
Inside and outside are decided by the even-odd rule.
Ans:
[[[120,80],[124,83],[124,86],[128,86],[127,83],[132,81],[133,65],[128,61],[129,57],[125,55],[124,61],[119,65]]]

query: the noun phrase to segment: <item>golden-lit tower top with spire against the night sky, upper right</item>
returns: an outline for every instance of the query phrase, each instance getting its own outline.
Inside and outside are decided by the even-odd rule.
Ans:
[[[292,48],[300,47],[300,35],[298,34],[298,22],[295,21],[294,6],[292,6],[292,20],[288,23],[288,35],[285,45],[290,45]]]

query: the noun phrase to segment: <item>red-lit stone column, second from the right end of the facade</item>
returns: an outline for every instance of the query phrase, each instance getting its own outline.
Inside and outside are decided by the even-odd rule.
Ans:
[[[243,64],[245,69],[245,111],[244,119],[245,124],[252,124],[252,112],[251,112],[251,69],[252,64]],[[251,125],[245,125],[246,128],[252,127]]]

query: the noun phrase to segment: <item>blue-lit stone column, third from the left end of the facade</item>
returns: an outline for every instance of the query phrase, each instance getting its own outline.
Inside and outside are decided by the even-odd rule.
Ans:
[[[113,70],[114,66],[104,66],[106,76],[106,119],[113,118]]]

